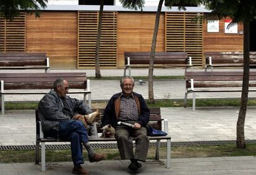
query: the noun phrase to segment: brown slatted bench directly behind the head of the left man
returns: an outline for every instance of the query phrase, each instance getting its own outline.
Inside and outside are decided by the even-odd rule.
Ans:
[[[83,100],[86,100],[88,95],[88,105],[91,105],[90,81],[87,79],[86,73],[0,73],[2,114],[4,114],[5,95],[46,94],[49,89],[53,89],[54,81],[57,78],[69,81],[69,94],[83,94]],[[28,89],[31,91],[26,91]]]

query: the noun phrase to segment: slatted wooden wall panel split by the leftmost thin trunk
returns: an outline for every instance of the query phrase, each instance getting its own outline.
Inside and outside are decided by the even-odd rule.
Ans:
[[[95,68],[95,49],[99,12],[78,12],[78,68]],[[100,66],[117,66],[117,12],[103,12]]]

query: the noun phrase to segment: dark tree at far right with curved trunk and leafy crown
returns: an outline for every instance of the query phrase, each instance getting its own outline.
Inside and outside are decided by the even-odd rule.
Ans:
[[[236,147],[245,149],[244,123],[247,111],[250,63],[250,22],[256,18],[255,0],[204,0],[205,6],[211,10],[207,17],[218,19],[230,17],[229,25],[241,23],[244,26],[244,72],[242,79],[241,106],[236,124]]]

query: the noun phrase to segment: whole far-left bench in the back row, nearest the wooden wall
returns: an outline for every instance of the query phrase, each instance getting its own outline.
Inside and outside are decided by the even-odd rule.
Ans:
[[[0,54],[0,69],[45,69],[49,70],[49,58],[46,53],[5,53]]]

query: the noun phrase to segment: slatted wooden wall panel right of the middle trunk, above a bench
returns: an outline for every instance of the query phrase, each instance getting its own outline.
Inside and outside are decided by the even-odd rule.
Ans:
[[[165,51],[187,52],[192,57],[194,66],[202,67],[203,30],[202,22],[194,22],[193,18],[200,13],[165,13]]]

